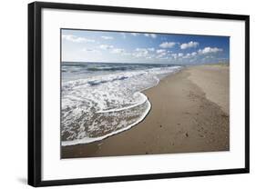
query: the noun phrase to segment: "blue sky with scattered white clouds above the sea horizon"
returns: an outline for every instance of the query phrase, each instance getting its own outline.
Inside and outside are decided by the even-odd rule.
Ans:
[[[61,30],[63,62],[199,65],[229,62],[230,37]]]

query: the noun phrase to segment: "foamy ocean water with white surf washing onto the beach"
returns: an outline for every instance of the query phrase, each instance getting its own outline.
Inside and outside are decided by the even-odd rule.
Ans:
[[[179,65],[61,64],[61,144],[88,144],[141,122],[151,104],[141,93]]]

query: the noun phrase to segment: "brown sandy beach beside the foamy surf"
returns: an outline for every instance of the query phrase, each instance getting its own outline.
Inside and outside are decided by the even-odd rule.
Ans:
[[[230,149],[227,65],[198,65],[143,93],[151,110],[128,131],[91,144],[62,146],[62,158],[173,154]]]

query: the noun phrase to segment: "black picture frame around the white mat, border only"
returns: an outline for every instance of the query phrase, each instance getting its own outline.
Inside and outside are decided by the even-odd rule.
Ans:
[[[170,15],[182,17],[241,20],[245,22],[245,167],[239,169],[205,170],[182,173],[118,175],[66,180],[42,180],[42,75],[41,75],[41,15],[43,8],[126,13],[140,15]],[[101,5],[77,5],[35,2],[28,5],[28,184],[32,186],[93,184],[133,180],[206,176],[215,174],[245,174],[250,172],[250,16],[170,11]]]

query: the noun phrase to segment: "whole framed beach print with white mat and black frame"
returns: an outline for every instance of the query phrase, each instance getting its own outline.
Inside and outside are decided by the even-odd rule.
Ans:
[[[249,173],[249,15],[28,5],[28,184]]]

